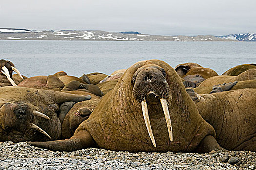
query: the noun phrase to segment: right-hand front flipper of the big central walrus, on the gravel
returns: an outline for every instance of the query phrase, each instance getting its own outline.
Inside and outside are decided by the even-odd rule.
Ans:
[[[223,149],[219,144],[217,143],[216,139],[214,136],[207,135],[204,137],[204,139],[201,141],[201,143],[198,145],[197,149],[195,152],[197,153],[208,153],[212,150],[222,150],[222,151],[227,151]]]

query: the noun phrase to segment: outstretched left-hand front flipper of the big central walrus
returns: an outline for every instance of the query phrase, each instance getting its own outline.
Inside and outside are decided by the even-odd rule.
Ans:
[[[29,142],[29,144],[52,151],[68,152],[96,146],[93,137],[86,130],[79,131],[76,136],[73,136],[70,139],[48,142]]]

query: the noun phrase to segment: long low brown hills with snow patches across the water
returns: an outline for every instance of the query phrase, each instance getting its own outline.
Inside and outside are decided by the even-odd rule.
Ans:
[[[100,30],[27,30],[0,28],[0,40],[70,40],[70,41],[235,41],[213,35],[163,36],[139,32],[106,32]]]

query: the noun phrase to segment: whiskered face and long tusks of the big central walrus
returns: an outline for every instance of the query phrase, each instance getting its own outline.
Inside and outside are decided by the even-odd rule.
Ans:
[[[138,68],[132,78],[133,96],[141,103],[143,117],[153,145],[156,147],[152,133],[147,105],[161,103],[167,123],[169,138],[173,141],[172,125],[168,104],[171,102],[170,87],[166,80],[166,72],[159,66]]]

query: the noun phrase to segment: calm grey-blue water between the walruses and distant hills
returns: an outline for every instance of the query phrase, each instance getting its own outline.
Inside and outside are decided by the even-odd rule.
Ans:
[[[239,64],[256,63],[256,43],[1,40],[0,58],[12,61],[28,77],[58,71],[74,76],[111,74],[148,59],[163,60],[172,67],[195,62],[222,74]]]

